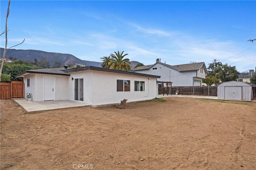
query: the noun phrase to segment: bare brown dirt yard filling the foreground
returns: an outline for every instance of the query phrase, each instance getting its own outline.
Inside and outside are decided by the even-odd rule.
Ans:
[[[256,102],[166,100],[34,114],[0,100],[0,168],[256,169]]]

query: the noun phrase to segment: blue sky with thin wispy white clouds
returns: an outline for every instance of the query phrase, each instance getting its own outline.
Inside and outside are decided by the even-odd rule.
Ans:
[[[8,1],[0,1],[0,31]],[[98,61],[124,51],[130,61],[171,65],[214,59],[239,72],[256,66],[256,1],[20,1],[10,4],[8,47]],[[4,47],[5,36],[0,37]]]

